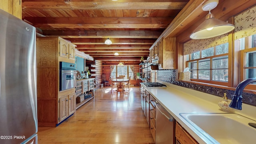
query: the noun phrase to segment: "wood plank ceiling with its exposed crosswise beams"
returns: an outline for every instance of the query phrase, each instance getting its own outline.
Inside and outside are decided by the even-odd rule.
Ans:
[[[22,0],[22,19],[105,64],[139,63],[188,1]],[[111,45],[104,44],[107,38]]]

